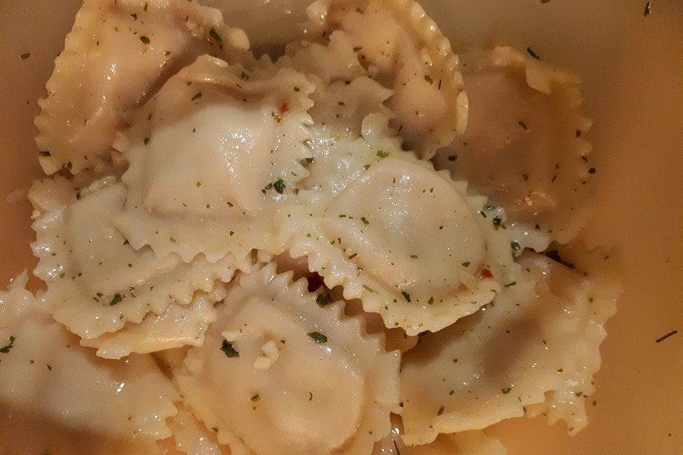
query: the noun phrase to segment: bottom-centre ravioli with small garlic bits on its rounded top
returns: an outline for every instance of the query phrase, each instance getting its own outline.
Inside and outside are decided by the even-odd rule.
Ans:
[[[398,351],[291,277],[235,280],[175,372],[186,405],[233,455],[369,454],[398,407]]]

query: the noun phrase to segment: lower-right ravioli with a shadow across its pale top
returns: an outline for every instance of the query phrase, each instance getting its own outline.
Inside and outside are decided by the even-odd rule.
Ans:
[[[565,259],[574,256],[576,247]],[[621,290],[605,256],[578,255],[590,258],[586,268],[525,253],[514,285],[478,314],[423,336],[403,358],[403,441],[427,444],[527,413],[564,420],[571,434],[585,427],[603,324]]]

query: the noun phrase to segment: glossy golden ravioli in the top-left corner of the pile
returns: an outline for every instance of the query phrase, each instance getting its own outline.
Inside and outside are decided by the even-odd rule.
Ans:
[[[220,11],[196,1],[84,1],[36,117],[43,169],[100,166],[110,159],[116,132],[155,85],[198,55],[235,58],[248,46]]]

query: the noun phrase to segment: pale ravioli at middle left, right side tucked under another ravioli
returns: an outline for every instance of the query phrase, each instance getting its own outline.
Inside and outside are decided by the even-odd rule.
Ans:
[[[73,333],[97,338],[147,314],[164,314],[172,304],[190,304],[195,291],[232,279],[236,261],[230,259],[186,264],[178,255],[159,258],[149,247],[134,250],[114,226],[125,186],[114,177],[76,184],[60,177],[38,181],[29,195],[39,214],[34,273],[47,284],[43,299],[54,318]]]

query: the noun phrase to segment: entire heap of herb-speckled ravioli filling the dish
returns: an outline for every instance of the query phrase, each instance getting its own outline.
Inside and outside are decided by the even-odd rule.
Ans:
[[[455,55],[413,0],[87,0],[47,90],[45,287],[0,291],[12,450],[502,455],[504,419],[586,426],[621,286],[577,240],[576,75]]]

